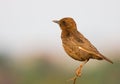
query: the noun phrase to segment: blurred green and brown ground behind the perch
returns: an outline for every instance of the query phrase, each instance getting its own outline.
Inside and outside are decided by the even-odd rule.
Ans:
[[[0,84],[72,84],[72,81],[66,80],[74,76],[79,63],[69,64],[61,58],[57,59],[57,56],[54,59],[48,57],[55,56],[37,54],[31,58],[12,59],[1,54]],[[77,84],[119,84],[119,71],[119,61],[110,64],[91,60],[84,66],[82,77],[77,80]]]

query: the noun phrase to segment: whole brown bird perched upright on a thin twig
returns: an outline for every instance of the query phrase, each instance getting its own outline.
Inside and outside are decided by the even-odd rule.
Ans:
[[[59,24],[62,34],[62,44],[66,53],[75,60],[84,61],[77,70],[76,77],[81,76],[81,68],[89,59],[106,60],[113,63],[111,60],[103,56],[78,30],[75,21],[66,17],[61,20],[54,20]],[[75,77],[75,78],[76,78]]]

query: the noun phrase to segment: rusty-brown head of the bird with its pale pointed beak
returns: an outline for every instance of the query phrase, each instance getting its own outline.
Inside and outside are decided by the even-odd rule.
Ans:
[[[53,22],[59,24],[60,28],[64,30],[77,30],[75,21],[70,18],[62,18],[60,20],[53,20]]]

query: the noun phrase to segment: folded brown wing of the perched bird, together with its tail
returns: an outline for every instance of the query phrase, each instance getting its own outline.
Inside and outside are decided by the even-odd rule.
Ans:
[[[73,37],[71,37],[71,41],[74,45],[78,46],[79,49],[90,53],[93,55],[95,59],[105,59],[112,63],[111,60],[103,56],[92,44],[89,40],[87,40],[81,33],[74,33]]]

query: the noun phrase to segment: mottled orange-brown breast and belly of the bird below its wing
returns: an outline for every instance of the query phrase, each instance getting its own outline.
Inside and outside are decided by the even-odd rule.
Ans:
[[[62,44],[66,53],[75,60],[85,61],[88,57],[88,53],[85,53],[83,50],[79,49],[79,47],[70,39],[70,38],[62,38]]]

